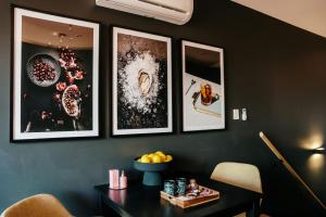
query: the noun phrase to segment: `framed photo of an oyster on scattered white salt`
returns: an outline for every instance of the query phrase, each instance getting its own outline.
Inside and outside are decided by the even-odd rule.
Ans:
[[[168,133],[171,38],[113,27],[112,135]]]

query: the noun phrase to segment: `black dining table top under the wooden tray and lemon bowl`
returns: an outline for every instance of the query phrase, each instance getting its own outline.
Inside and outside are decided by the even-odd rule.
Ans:
[[[104,203],[121,216],[167,217],[167,216],[230,216],[252,208],[262,196],[211,179],[197,179],[201,186],[220,191],[216,201],[189,208],[180,208],[160,197],[162,187],[148,187],[134,182],[125,190],[110,190],[108,184],[96,186]]]

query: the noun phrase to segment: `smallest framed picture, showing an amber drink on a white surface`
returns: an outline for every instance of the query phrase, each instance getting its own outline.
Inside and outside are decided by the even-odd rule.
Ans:
[[[225,128],[223,49],[181,40],[183,130]]]

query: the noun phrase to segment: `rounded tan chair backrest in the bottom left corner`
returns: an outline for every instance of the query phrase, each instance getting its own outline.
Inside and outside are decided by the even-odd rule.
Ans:
[[[72,217],[70,212],[51,194],[37,194],[24,199],[9,208],[1,217]]]

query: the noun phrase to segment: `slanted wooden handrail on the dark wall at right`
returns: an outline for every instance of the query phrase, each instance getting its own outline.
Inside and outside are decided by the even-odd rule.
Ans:
[[[276,157],[280,161],[280,163],[290,171],[290,174],[299,180],[303,187],[309,191],[309,193],[317,201],[321,206],[326,209],[325,204],[314,194],[314,192],[309,188],[309,186],[303,181],[303,179],[296,173],[296,170],[291,167],[291,165],[284,158],[284,156],[277,151],[274,144],[268,140],[268,138],[264,135],[264,132],[260,132],[260,137],[265,142],[265,144],[271,149],[271,151],[276,155]]]

